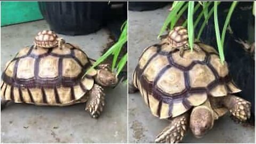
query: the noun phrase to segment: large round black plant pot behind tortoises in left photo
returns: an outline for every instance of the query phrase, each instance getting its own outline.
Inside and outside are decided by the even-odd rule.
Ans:
[[[108,14],[108,2],[38,2],[51,30],[66,35],[99,30]]]

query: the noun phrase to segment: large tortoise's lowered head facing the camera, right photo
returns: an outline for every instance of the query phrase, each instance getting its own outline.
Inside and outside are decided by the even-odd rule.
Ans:
[[[201,138],[213,127],[214,115],[212,109],[197,106],[190,115],[190,129],[196,138]]]

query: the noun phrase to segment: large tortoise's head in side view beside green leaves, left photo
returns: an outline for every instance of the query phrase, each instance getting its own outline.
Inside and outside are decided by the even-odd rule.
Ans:
[[[116,74],[111,71],[111,68],[107,64],[98,66],[98,73],[95,77],[95,81],[101,86],[115,86],[118,82]]]

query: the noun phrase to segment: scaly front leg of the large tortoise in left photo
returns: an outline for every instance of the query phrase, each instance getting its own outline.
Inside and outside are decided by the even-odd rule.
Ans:
[[[101,86],[94,84],[89,92],[89,100],[86,102],[85,110],[89,111],[93,118],[98,118],[103,110],[104,103],[103,89]]]

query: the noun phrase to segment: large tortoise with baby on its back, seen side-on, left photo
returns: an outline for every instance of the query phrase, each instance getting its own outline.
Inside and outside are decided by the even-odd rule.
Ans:
[[[2,109],[9,101],[44,106],[86,102],[85,110],[97,118],[104,106],[102,86],[116,85],[117,78],[108,65],[89,70],[93,62],[78,46],[65,43],[53,31],[39,32],[33,46],[20,50],[6,63]]]

